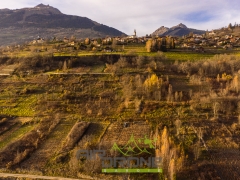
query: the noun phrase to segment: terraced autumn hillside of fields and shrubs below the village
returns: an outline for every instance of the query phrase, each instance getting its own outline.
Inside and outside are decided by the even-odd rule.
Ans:
[[[2,57],[2,71],[12,71],[0,77],[0,171],[238,179],[239,56],[125,50]],[[163,173],[104,174],[99,159],[76,158],[80,149],[109,157],[141,150],[163,158]]]

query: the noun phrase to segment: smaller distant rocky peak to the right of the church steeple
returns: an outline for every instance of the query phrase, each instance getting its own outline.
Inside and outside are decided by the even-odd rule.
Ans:
[[[159,35],[159,36],[183,36],[183,35],[188,35],[190,32],[193,32],[194,34],[204,34],[205,33],[205,31],[203,31],[203,30],[188,28],[186,25],[180,23],[171,28],[161,26],[156,31],[154,31],[152,33],[152,35],[154,35],[154,36],[156,36],[156,35]]]

